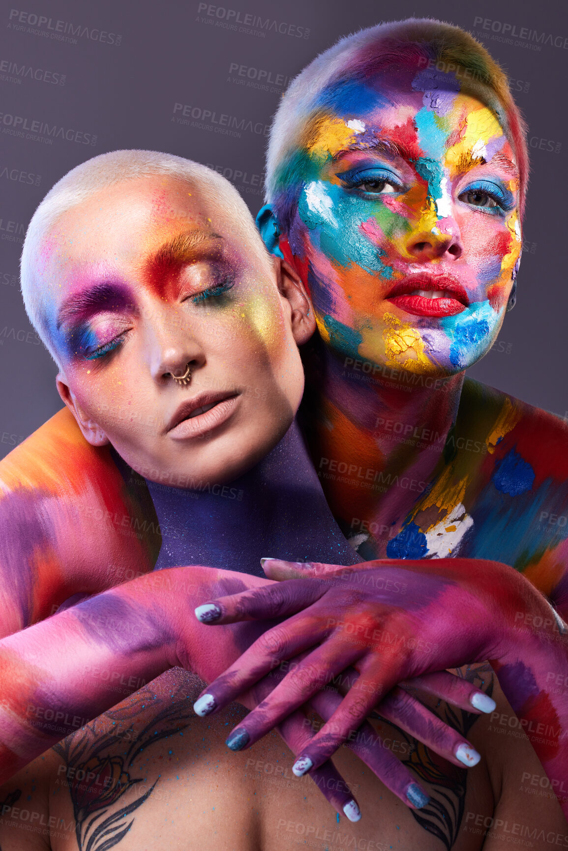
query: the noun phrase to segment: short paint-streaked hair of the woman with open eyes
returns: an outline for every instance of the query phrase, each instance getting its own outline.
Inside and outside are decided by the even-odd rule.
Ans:
[[[266,203],[272,203],[288,231],[301,191],[302,165],[297,151],[306,145],[307,129],[330,94],[353,80],[389,68],[435,66],[456,73],[461,90],[496,113],[513,147],[519,168],[520,215],[529,178],[526,124],[513,101],[508,79],[482,44],[459,26],[430,18],[409,18],[371,26],[341,38],[295,77],[276,112],[267,148]],[[433,86],[434,88],[434,86]]]

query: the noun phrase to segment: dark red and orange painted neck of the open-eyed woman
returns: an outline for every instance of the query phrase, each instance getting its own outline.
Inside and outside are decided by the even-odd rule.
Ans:
[[[350,360],[315,340],[301,409],[313,464],[346,534],[364,520],[390,526],[414,505],[439,465],[464,380]]]

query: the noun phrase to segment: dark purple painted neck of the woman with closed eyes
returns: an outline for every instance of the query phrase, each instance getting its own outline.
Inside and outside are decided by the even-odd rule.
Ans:
[[[187,564],[264,576],[260,559],[360,561],[328,507],[296,422],[237,480],[192,490],[147,482],[162,531],[157,569]]]

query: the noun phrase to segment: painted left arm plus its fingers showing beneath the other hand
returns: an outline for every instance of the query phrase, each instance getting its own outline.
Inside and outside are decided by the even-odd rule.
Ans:
[[[277,584],[213,568],[169,568],[91,597],[4,638],[0,641],[0,783],[77,726],[115,705],[117,688],[119,693],[129,694],[142,680],[152,680],[175,665],[197,673],[206,682],[213,680],[275,621],[226,625],[215,632],[212,642],[207,625],[193,615],[195,603],[204,597],[260,591],[270,585]],[[302,654],[306,655],[306,648],[300,648],[294,664],[301,665]],[[250,690],[239,689],[238,700],[254,708],[278,686],[287,670],[281,666],[268,671]],[[320,688],[326,682],[325,671],[323,674]],[[349,677],[356,679],[358,674],[350,671]],[[348,688],[348,683],[339,683],[340,691]],[[433,688],[435,691],[436,683]],[[472,711],[468,699],[476,691],[465,684],[465,690],[453,697]],[[317,692],[309,705],[327,721],[341,705],[341,695],[333,688]],[[304,702],[286,712],[278,725],[296,754],[304,751],[314,736]],[[382,711],[425,744],[436,740],[438,751],[443,755],[447,751],[454,762],[456,740],[471,747],[455,731],[444,729],[438,719],[429,722],[424,707],[400,689],[383,701]],[[239,746],[234,740],[227,744],[233,750]],[[427,803],[422,786],[369,723],[363,723],[348,746],[407,806],[420,808]],[[349,817],[358,814],[353,794],[331,762],[323,761],[310,776],[338,812]]]

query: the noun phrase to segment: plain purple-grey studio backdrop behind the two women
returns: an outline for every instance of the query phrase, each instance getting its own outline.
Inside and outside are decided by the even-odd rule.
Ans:
[[[220,170],[255,214],[266,134],[290,78],[338,37],[411,15],[448,20],[485,43],[529,124],[517,306],[470,374],[568,418],[565,3],[14,3],[0,8],[0,457],[61,407],[18,276],[26,226],[55,181],[104,151],[169,151]]]

